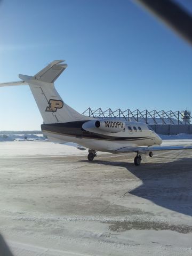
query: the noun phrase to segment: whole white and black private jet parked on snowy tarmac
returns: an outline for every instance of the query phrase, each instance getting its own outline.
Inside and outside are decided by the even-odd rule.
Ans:
[[[153,156],[156,150],[192,149],[192,145],[160,146],[162,139],[149,125],[128,122],[122,118],[84,116],[69,107],[54,87],[55,80],[67,68],[65,60],[54,60],[35,76],[19,74],[21,81],[1,86],[29,85],[43,118],[41,129],[54,143],[74,142],[78,149],[88,149],[87,158],[93,161],[97,151],[113,154],[135,152],[134,164],[142,157]]]

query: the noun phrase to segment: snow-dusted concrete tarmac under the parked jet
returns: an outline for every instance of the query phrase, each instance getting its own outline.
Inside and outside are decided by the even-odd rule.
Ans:
[[[192,150],[140,166],[132,153],[82,154],[0,155],[0,231],[13,255],[192,255]]]

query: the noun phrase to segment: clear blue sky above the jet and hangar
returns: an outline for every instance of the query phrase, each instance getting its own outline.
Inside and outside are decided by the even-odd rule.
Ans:
[[[4,0],[0,21],[1,83],[65,59],[55,87],[80,113],[192,110],[192,48],[131,0]],[[0,130],[40,130],[28,86],[0,91]]]

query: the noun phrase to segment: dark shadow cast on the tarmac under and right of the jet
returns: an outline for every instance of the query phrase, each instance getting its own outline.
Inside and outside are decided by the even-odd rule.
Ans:
[[[113,161],[113,159],[110,161],[95,159],[91,163],[125,167],[142,181],[142,185],[127,194],[148,199],[156,205],[175,212],[192,215],[191,158],[175,159],[169,163],[142,163],[140,166],[134,166],[129,162]],[[125,179],[129,182],[129,178],[125,177]]]

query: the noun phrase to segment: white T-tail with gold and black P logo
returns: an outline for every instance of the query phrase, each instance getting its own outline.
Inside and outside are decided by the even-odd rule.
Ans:
[[[29,85],[34,95],[44,124],[66,123],[90,120],[90,117],[79,114],[61,99],[54,87],[54,81],[67,68],[64,60],[52,61],[35,76],[19,74],[22,81],[0,84],[0,86]]]

